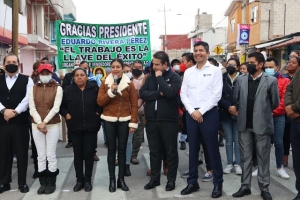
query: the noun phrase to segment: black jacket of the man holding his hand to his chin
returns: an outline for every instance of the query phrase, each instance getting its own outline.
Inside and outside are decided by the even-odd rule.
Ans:
[[[140,97],[146,102],[145,118],[148,121],[178,121],[180,87],[180,76],[171,68],[162,76],[155,77],[155,72],[151,73],[140,89]],[[163,96],[160,93],[163,93]]]

